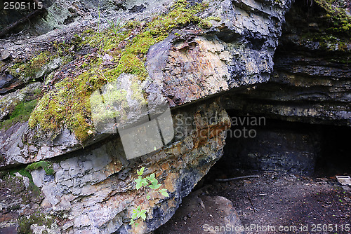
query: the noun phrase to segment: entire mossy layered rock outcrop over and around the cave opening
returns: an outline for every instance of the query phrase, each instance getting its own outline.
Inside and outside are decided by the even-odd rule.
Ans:
[[[65,11],[58,13],[58,22],[67,26],[18,43],[1,41],[11,58],[1,62],[0,117],[7,125],[0,130],[0,200],[6,201],[0,228],[20,233],[156,229],[223,154],[224,131],[230,128],[225,109],[350,125],[350,69],[345,62],[317,60],[314,52],[324,51],[321,45],[291,36],[300,32],[294,12],[274,57],[291,1],[173,4],[108,1],[99,9],[91,1],[69,7],[60,1],[55,8]],[[79,20],[69,24],[74,18]],[[125,25],[118,26],[117,19]],[[44,24],[39,30],[40,24],[36,33],[53,28]],[[350,53],[348,44],[345,51],[329,49],[332,59]],[[86,100],[103,85],[132,75],[134,83],[120,93],[132,97],[137,84],[149,106],[168,102],[175,136],[163,148],[127,160],[119,135],[95,131]],[[149,190],[147,199],[135,189],[140,167],[146,175],[156,174],[169,197]],[[11,186],[18,189],[9,191]],[[146,219],[131,226],[138,205]]]

